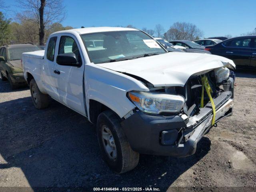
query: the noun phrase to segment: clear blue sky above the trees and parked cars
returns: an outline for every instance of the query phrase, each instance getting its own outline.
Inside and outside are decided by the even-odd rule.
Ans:
[[[8,16],[20,11],[15,0]],[[64,0],[64,26],[127,26],[154,29],[161,24],[168,30],[174,22],[196,24],[204,37],[239,36],[256,27],[256,0]]]

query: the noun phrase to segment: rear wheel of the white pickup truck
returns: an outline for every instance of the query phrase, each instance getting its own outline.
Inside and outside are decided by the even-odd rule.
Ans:
[[[35,108],[44,109],[49,105],[49,96],[40,92],[36,81],[32,79],[29,84],[32,101]]]

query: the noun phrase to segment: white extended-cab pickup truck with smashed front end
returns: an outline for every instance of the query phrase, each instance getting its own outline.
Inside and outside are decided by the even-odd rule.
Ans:
[[[50,96],[88,118],[117,173],[136,167],[139,154],[194,154],[202,136],[232,115],[232,60],[168,52],[136,29],[55,32],[45,51],[23,53],[22,65],[34,106],[46,108]]]

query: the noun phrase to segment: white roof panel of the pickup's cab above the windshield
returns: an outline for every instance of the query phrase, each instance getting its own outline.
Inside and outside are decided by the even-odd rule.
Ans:
[[[108,31],[138,31],[138,29],[134,28],[124,28],[124,27],[87,27],[87,28],[78,28],[78,29],[70,29],[64,31],[58,31],[53,34],[60,33],[78,33],[78,34],[88,34],[88,33],[96,33],[96,32],[108,32]]]

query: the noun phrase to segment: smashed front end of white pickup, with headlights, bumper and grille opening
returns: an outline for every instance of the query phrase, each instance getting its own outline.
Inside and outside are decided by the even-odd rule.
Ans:
[[[230,76],[228,68],[220,67],[194,74],[184,87],[152,87],[150,94],[144,98],[141,93],[128,94],[134,104],[140,103],[136,104],[134,114],[122,122],[133,150],[143,154],[189,156],[195,153],[198,141],[212,126],[232,115],[234,76]]]

